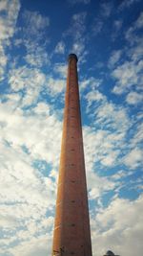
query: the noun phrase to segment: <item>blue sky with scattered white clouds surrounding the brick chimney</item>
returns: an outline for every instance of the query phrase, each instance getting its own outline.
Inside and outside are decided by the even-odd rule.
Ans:
[[[93,256],[143,250],[143,4],[0,1],[0,256],[50,256],[75,53]]]

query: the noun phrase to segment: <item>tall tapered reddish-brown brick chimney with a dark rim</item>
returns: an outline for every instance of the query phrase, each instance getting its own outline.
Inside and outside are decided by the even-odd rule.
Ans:
[[[68,58],[52,255],[92,256],[77,57]]]

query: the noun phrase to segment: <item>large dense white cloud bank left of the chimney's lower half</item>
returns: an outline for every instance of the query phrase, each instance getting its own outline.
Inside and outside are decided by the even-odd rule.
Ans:
[[[14,93],[0,104],[0,225],[7,236],[1,243],[7,247],[5,255],[6,251],[12,255],[41,255],[51,249],[45,244],[51,242],[56,190],[55,178],[48,176],[50,168],[42,165],[51,164],[56,170],[61,123],[51,114],[50,105],[41,102],[23,111],[20,100],[19,94]],[[44,163],[40,164],[42,160]],[[35,161],[40,164],[40,171]],[[9,248],[12,242],[14,246]],[[27,250],[23,250],[25,244]]]

